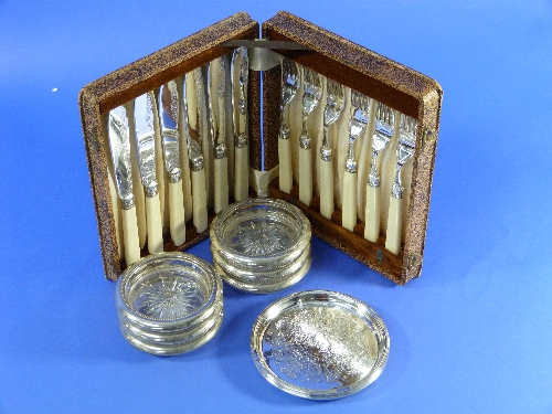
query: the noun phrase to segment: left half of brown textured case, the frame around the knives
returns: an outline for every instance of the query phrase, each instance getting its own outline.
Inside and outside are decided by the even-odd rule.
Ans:
[[[107,163],[110,159],[106,159],[106,155],[109,153],[109,149],[105,148],[104,144],[106,130],[102,124],[102,115],[230,52],[231,47],[220,46],[222,42],[255,39],[257,34],[258,23],[253,21],[247,13],[237,13],[100,77],[81,91],[78,96],[81,120],[96,206],[104,270],[108,279],[117,279],[125,268],[125,263],[121,262],[117,248],[114,206],[107,174]],[[208,231],[198,234],[195,229],[191,225],[189,227],[191,229],[188,230],[187,243],[179,246],[180,250],[185,250],[209,235]],[[164,250],[176,250],[168,237]],[[147,252],[142,252],[142,255],[145,254]]]

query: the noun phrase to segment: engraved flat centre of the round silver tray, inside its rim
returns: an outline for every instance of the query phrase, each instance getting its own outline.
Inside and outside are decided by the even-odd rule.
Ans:
[[[375,340],[359,317],[331,307],[289,310],[267,329],[270,369],[310,389],[350,385],[375,363]]]

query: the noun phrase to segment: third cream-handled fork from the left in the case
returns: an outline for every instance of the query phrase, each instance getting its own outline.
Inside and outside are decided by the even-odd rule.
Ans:
[[[333,213],[333,171],[331,168],[331,148],[328,142],[328,129],[341,115],[344,107],[343,86],[327,79],[327,100],[323,108],[323,138],[320,148],[320,214],[331,219]]]

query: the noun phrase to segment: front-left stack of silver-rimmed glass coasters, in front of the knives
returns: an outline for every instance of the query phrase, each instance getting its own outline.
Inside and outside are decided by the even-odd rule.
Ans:
[[[221,278],[209,263],[190,254],[147,256],[123,273],[115,291],[123,336],[149,353],[197,349],[222,323]]]

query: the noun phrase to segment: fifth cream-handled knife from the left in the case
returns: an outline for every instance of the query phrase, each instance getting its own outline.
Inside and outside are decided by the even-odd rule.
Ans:
[[[213,114],[214,149],[214,212],[229,205],[229,159],[226,158],[226,63],[224,56],[210,63],[210,89],[215,91],[216,110]]]

